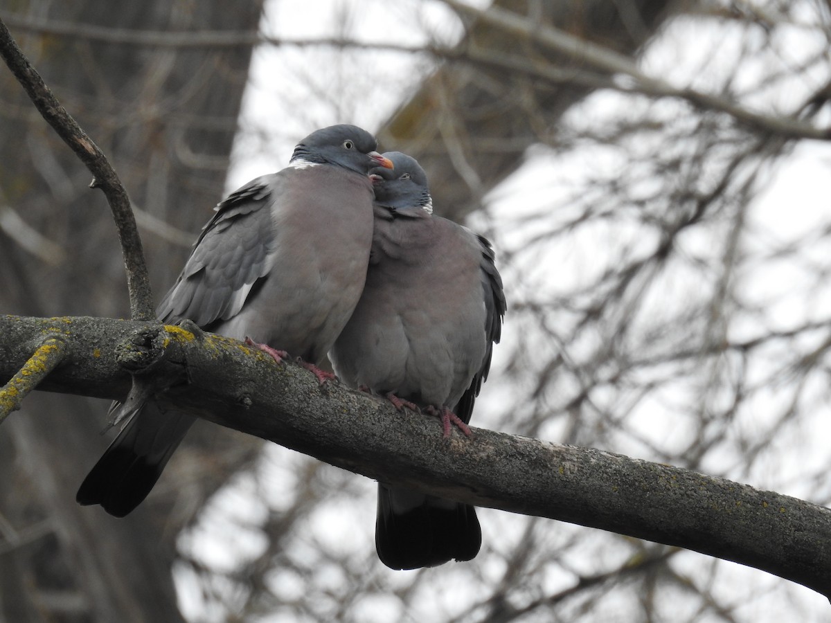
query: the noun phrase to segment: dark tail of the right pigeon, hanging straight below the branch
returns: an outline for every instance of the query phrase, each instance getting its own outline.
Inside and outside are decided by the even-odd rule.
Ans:
[[[470,560],[481,544],[472,506],[378,483],[375,547],[387,567],[418,569]]]

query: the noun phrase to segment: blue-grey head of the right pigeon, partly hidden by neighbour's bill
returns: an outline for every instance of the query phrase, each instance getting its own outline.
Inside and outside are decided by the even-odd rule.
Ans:
[[[400,151],[388,151],[384,157],[391,161],[393,168],[376,167],[369,172],[375,203],[395,213],[408,208],[431,213],[433,199],[427,187],[427,174],[418,161]]]

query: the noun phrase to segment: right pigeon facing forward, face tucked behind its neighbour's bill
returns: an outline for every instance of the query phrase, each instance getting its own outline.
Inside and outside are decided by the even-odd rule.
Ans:
[[[432,215],[415,159],[385,154],[374,169],[375,229],[366,286],[329,356],[337,375],[401,410],[407,402],[465,424],[499,341],[505,298],[490,243]],[[457,421],[458,420],[454,420]],[[470,560],[482,536],[475,509],[378,483],[376,549],[393,569]]]

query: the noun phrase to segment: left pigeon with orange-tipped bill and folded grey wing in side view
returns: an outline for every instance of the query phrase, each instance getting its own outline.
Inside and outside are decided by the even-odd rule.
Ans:
[[[290,164],[230,194],[205,225],[157,314],[207,331],[251,336],[315,367],[361,296],[372,237],[373,167],[391,167],[355,125],[317,130]],[[278,358],[278,351],[271,351]],[[284,353],[280,353],[284,354]],[[128,419],[76,499],[123,517],[150,493],[194,418],[127,400]],[[135,405],[130,403],[135,402]]]

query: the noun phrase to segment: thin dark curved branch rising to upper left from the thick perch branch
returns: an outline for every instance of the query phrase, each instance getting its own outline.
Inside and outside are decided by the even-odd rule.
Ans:
[[[91,188],[101,188],[110,204],[116,221],[121,251],[127,271],[127,289],[130,292],[130,316],[135,320],[155,318],[150,277],[147,274],[141,239],[135,228],[135,218],[130,210],[130,199],[116,171],[104,153],[86,135],[76,120],[66,111],[42,77],[35,71],[17,42],[12,39],[6,25],[0,20],[0,56],[17,78],[37,110],[57,135],[90,170]]]

